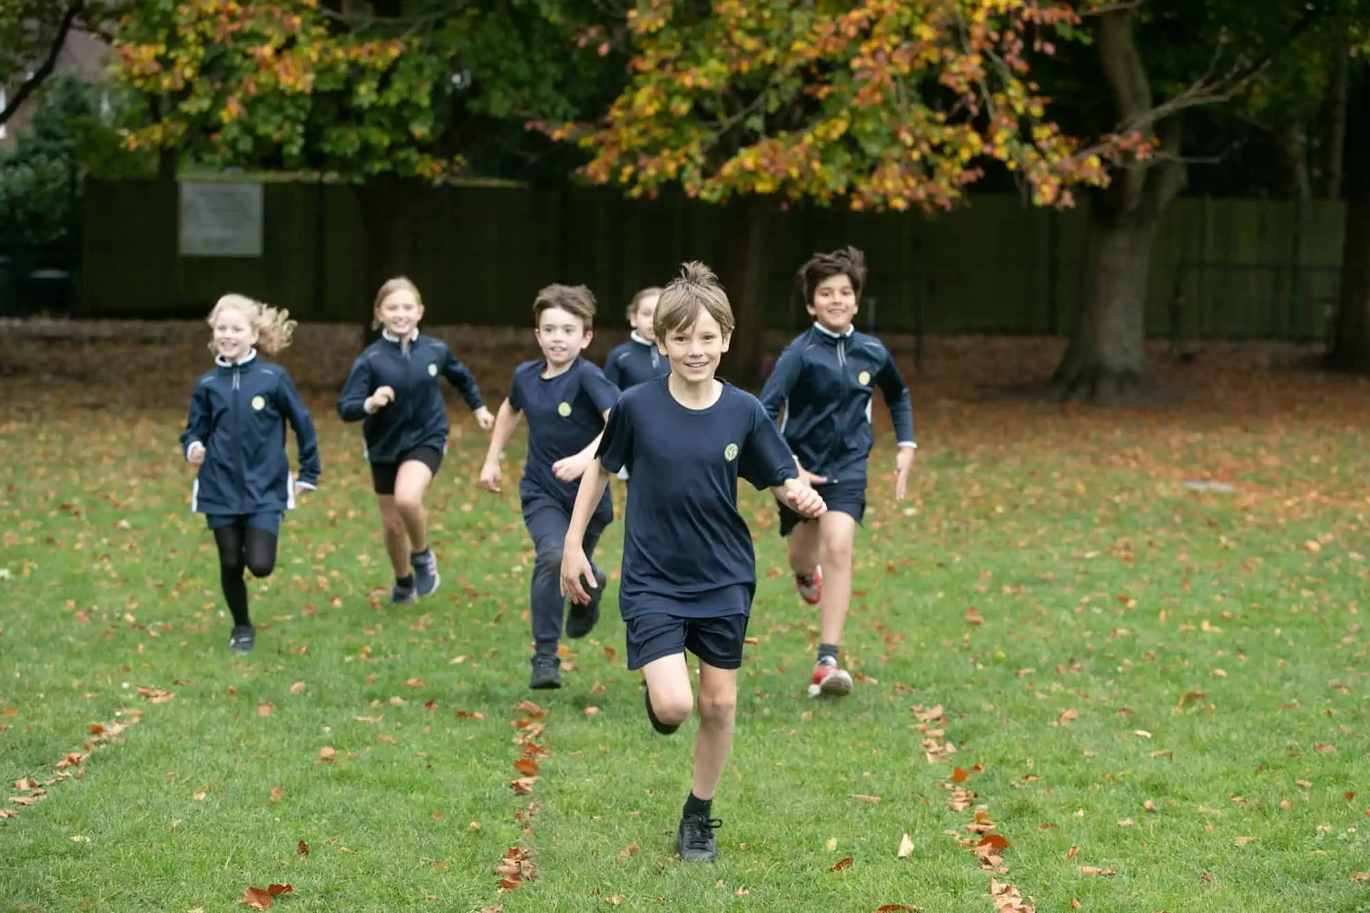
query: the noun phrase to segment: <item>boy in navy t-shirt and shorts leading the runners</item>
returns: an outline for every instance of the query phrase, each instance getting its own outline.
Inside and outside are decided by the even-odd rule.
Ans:
[[[756,589],[756,554],[737,510],[737,480],[770,488],[806,517],[823,502],[755,396],[714,378],[733,332],[733,311],[714,274],[686,263],[666,287],[655,317],[670,359],[667,377],[625,391],[608,415],[597,456],[585,469],[562,557],[562,588],[593,596],[584,544],[606,473],[623,466],[627,489],[619,609],[627,668],[641,669],[647,716],[670,733],[693,705],[685,651],[699,657],[695,775],[675,846],[689,862],[718,855],[714,791],[733,744],[737,670]]]

